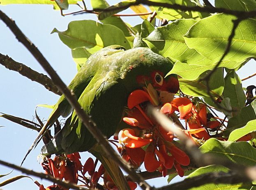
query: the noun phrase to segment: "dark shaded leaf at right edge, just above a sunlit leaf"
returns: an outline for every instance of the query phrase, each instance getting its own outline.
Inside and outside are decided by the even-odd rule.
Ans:
[[[235,117],[228,120],[227,129],[223,131],[223,134],[228,137],[228,135],[235,129],[245,126],[249,121],[256,119],[256,114],[251,105],[247,105],[242,108],[240,113]]]

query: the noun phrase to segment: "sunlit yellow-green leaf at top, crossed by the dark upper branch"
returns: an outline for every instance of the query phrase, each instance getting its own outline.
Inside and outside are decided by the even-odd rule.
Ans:
[[[154,2],[168,3],[168,4],[178,4],[187,7],[195,7],[196,4],[191,2],[191,0],[152,0]],[[180,11],[163,7],[154,7],[157,11],[157,16],[161,19],[166,19],[168,21],[177,20],[180,18],[198,18],[198,13],[195,11]]]

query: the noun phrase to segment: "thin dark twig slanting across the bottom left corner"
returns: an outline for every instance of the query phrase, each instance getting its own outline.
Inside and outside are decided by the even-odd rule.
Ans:
[[[51,175],[40,173],[40,172],[34,172],[33,170],[26,169],[24,167],[20,167],[20,166],[11,164],[11,163],[7,163],[7,162],[5,162],[3,160],[0,160],[0,164],[1,165],[5,165],[5,166],[10,167],[10,168],[13,168],[13,169],[16,169],[18,171],[21,171],[24,174],[28,174],[28,175],[32,175],[32,176],[37,176],[37,177],[39,177],[41,179],[46,179],[46,180],[51,181],[53,183],[57,183],[58,185],[61,185],[61,186],[65,187],[65,188],[72,188],[72,189],[75,189],[75,190],[88,190],[88,189],[82,188],[82,187],[80,187],[80,186],[78,186],[78,185],[76,185],[74,183],[70,183],[70,182],[67,183],[65,181],[56,179],[56,178],[54,178]]]

